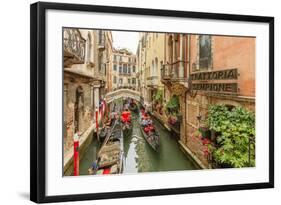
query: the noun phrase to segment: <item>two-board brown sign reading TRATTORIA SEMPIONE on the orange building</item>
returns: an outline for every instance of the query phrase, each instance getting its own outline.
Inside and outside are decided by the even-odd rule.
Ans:
[[[238,84],[233,82],[233,80],[238,79],[238,71],[236,68],[193,73],[190,75],[190,79],[192,82],[192,90],[222,93],[238,92]],[[223,82],[218,82],[220,80],[223,80]],[[226,82],[226,80],[231,80],[231,83]]]

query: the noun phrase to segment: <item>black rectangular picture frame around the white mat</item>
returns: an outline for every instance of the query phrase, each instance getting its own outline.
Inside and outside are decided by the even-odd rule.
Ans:
[[[46,196],[46,68],[45,39],[46,11],[67,10],[102,13],[168,16],[194,19],[262,22],[269,25],[269,181],[250,184],[230,184],[192,188],[171,188],[126,192],[90,193]],[[30,200],[37,203],[76,200],[97,200],[124,197],[140,197],[198,192],[218,192],[274,187],[274,17],[248,16],[218,13],[202,13],[146,8],[111,7],[83,4],[38,2],[30,6]]]

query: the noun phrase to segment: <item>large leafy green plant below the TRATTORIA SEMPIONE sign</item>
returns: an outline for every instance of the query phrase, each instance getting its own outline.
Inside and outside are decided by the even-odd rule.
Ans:
[[[218,133],[215,161],[231,167],[255,166],[255,115],[243,107],[211,105],[208,126]],[[250,160],[249,160],[250,146]]]

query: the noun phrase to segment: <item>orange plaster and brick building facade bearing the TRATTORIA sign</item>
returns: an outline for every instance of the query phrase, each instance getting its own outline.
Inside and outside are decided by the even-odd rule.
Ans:
[[[204,127],[209,105],[241,106],[255,112],[255,38],[190,35],[191,87],[185,95],[182,143],[206,167],[205,145],[193,137]]]

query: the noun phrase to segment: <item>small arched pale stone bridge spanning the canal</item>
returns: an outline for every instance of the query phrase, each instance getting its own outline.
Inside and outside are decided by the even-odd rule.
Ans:
[[[119,98],[133,98],[140,102],[140,92],[136,90],[131,89],[118,89],[112,92],[109,92],[105,95],[105,100],[107,103],[111,103],[114,100],[117,100]]]

